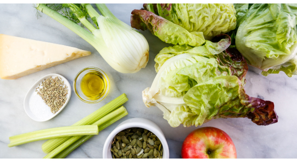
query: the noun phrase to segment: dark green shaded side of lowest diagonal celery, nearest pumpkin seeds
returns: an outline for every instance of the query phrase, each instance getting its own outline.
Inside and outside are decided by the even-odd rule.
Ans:
[[[128,113],[127,112],[123,112],[123,113],[117,115],[116,117],[114,117],[113,119],[111,119],[110,121],[104,122],[103,124],[101,124],[99,126],[99,131],[103,130],[104,128],[106,128],[107,126],[111,125],[112,123],[120,120],[121,118],[123,118],[126,115],[128,115]],[[73,144],[71,144],[69,147],[67,147],[66,149],[64,149],[62,152],[60,152],[58,155],[56,155],[54,157],[54,159],[63,159],[63,158],[65,158],[73,150],[75,150],[77,147],[79,147],[81,144],[83,144],[84,142],[86,142],[88,139],[90,139],[93,136],[94,135],[85,135],[85,136],[83,136],[82,138],[80,138],[79,140],[77,140]]]

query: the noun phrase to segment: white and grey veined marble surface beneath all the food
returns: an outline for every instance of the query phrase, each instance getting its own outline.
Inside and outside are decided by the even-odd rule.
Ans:
[[[130,24],[131,11],[141,8],[142,4],[107,6],[120,20]],[[151,85],[156,75],[153,61],[155,55],[170,44],[152,36],[149,31],[141,31],[150,47],[148,66],[137,74],[121,74],[113,70],[85,40],[45,14],[37,19],[35,13],[32,4],[0,4],[0,33],[90,50],[92,55],[17,80],[0,80],[0,158],[43,158],[46,154],[43,153],[41,145],[45,141],[8,148],[8,137],[39,129],[71,125],[122,93],[126,93],[129,98],[124,104],[129,115],[85,142],[67,158],[101,158],[102,146],[108,134],[120,122],[134,117],[146,118],[157,123],[167,138],[170,157],[181,158],[183,140],[196,127],[170,127],[157,107],[145,107],[141,96],[142,90]],[[103,101],[93,105],[87,104],[72,93],[64,110],[47,122],[35,122],[26,115],[23,101],[35,81],[47,74],[57,73],[68,79],[72,85],[76,73],[89,66],[98,67],[109,76],[110,92]],[[259,70],[250,67],[246,90],[250,96],[273,101],[279,122],[269,126],[258,126],[249,119],[217,119],[203,126],[214,126],[227,132],[235,143],[238,158],[297,158],[297,77],[289,78],[283,73],[263,77]]]

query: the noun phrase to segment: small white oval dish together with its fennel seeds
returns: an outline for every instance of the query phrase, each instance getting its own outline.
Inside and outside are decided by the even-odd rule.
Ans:
[[[49,121],[67,105],[71,85],[58,74],[49,74],[36,81],[24,99],[26,114],[37,122]]]

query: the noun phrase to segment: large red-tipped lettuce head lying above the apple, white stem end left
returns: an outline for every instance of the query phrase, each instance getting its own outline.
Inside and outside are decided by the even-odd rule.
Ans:
[[[216,40],[162,49],[155,59],[156,78],[143,91],[146,106],[161,109],[172,127],[217,118],[249,118],[258,125],[277,122],[272,102],[245,93],[247,63],[237,49],[228,48],[230,37]]]

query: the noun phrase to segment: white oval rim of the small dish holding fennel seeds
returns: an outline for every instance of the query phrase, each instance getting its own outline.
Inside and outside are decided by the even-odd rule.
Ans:
[[[67,99],[66,99],[66,102],[65,104],[60,108],[59,111],[57,111],[55,114],[52,114],[52,116],[49,116],[47,118],[38,118],[36,117],[31,109],[30,109],[30,105],[29,105],[29,101],[30,101],[30,98],[33,96],[33,95],[38,95],[37,92],[35,91],[35,89],[39,86],[39,84],[44,81],[45,79],[47,78],[55,78],[55,77],[59,77],[62,79],[62,81],[64,81],[64,84],[68,87],[68,94],[66,95]],[[37,121],[37,122],[45,122],[45,121],[49,121],[50,119],[52,119],[53,117],[55,117],[56,115],[58,115],[63,109],[64,107],[67,105],[69,99],[70,99],[70,96],[71,96],[71,85],[69,83],[69,81],[67,81],[66,78],[64,78],[63,76],[61,75],[58,75],[58,74],[49,74],[49,75],[46,75],[44,77],[42,77],[41,79],[39,79],[38,81],[36,81],[32,87],[29,89],[28,93],[26,94],[26,97],[24,99],[24,109],[25,109],[25,112],[27,113],[27,115],[33,119],[34,121]],[[48,106],[45,104],[45,106]],[[48,107],[49,108],[49,107]],[[50,108],[49,108],[50,110]]]

